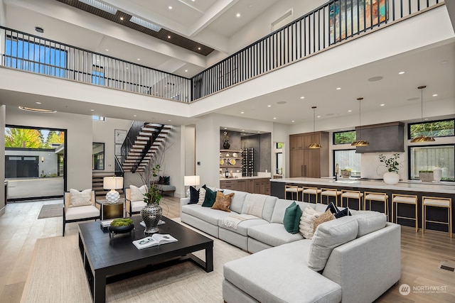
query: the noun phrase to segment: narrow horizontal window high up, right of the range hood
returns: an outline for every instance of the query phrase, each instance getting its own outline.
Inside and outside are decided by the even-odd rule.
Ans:
[[[407,138],[414,139],[418,136],[455,136],[455,119],[408,124]]]

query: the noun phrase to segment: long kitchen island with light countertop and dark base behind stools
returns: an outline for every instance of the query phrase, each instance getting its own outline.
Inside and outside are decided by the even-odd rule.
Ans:
[[[336,188],[338,190],[358,190],[360,192],[385,192],[389,196],[389,209],[392,209],[392,194],[415,194],[417,195],[417,211],[419,218],[419,227],[422,227],[422,196],[430,197],[449,197],[452,199],[452,218],[455,218],[454,203],[455,203],[455,183],[454,182],[419,182],[414,180],[401,181],[398,184],[390,185],[379,180],[355,180],[343,179],[334,180],[331,178],[306,178],[292,177],[283,179],[271,179],[271,194],[272,196],[284,199],[284,186],[297,185],[299,187],[317,187],[317,188]],[[314,202],[314,201],[311,201]],[[380,206],[380,205],[379,205]],[[375,209],[372,206],[372,210]],[[400,204],[400,216],[414,216],[414,206]],[[390,216],[390,219],[392,217]],[[389,219],[389,220],[390,220]],[[427,208],[427,219],[434,221],[447,221],[446,209],[429,207]],[[399,224],[405,226],[414,226],[414,221],[399,219]],[[443,224],[433,224],[427,222],[428,229],[437,231],[447,231],[447,226]],[[455,224],[452,221],[452,230],[455,230]]]

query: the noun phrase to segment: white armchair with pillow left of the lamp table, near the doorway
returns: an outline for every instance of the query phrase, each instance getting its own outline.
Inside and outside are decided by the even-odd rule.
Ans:
[[[85,189],[79,192],[77,189],[70,189],[63,196],[63,236],[65,236],[65,225],[71,222],[100,219],[100,209],[95,200],[95,191]]]

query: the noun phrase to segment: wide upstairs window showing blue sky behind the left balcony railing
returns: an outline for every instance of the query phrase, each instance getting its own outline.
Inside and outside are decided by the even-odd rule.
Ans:
[[[67,52],[55,46],[8,36],[5,42],[5,66],[55,77],[66,77]]]

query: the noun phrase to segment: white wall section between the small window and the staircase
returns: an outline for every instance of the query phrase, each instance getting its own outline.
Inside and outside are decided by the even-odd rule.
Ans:
[[[105,143],[105,171],[115,170],[115,141],[114,130],[123,129],[128,131],[131,120],[106,118],[105,121],[92,120],[93,142]]]

